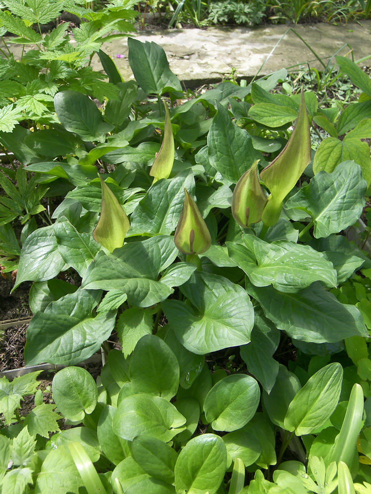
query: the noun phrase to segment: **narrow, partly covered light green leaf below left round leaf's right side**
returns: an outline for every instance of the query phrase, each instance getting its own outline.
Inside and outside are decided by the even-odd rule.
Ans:
[[[129,447],[125,439],[118,437],[113,432],[112,420],[115,413],[116,409],[114,407],[110,405],[105,406],[99,417],[96,435],[104,455],[114,465],[118,465],[120,461],[128,456]]]

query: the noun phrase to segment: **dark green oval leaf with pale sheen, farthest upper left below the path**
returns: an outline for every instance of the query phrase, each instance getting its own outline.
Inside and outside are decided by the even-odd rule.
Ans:
[[[107,132],[115,128],[103,122],[102,114],[86,94],[71,90],[58,92],[54,96],[54,108],[63,127],[83,141],[104,142]]]

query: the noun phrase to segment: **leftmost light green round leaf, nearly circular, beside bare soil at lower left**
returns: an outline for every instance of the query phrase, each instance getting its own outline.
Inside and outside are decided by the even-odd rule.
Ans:
[[[92,413],[98,398],[93,377],[81,367],[66,367],[53,378],[53,400],[65,418],[83,420]]]

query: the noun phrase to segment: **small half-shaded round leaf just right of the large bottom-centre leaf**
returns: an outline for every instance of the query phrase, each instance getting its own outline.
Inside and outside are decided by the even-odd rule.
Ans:
[[[223,436],[223,441],[232,460],[241,458],[246,467],[252,465],[262,453],[259,441],[243,430],[229,432]]]

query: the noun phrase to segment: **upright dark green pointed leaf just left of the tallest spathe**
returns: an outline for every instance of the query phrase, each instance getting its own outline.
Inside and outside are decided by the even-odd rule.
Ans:
[[[254,149],[246,130],[232,123],[229,111],[219,103],[217,110],[207,136],[209,161],[229,186],[236,184],[262,155]]]

